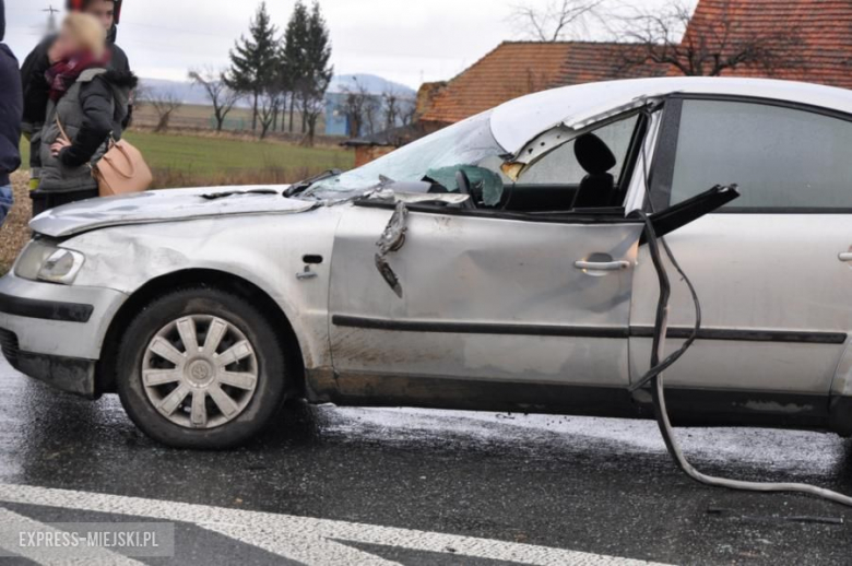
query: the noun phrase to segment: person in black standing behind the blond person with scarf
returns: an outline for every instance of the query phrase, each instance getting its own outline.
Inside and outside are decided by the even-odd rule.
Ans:
[[[130,63],[125,51],[116,45],[116,35],[118,34],[118,21],[121,9],[121,0],[68,0],[69,11],[82,11],[94,15],[107,31],[107,43],[111,52],[109,68],[119,73],[130,73]],[[29,189],[38,188],[40,178],[42,163],[38,148],[38,132],[45,123],[49,85],[45,80],[45,73],[51,64],[56,63],[56,57],[51,58],[50,48],[56,43],[55,35],[45,38],[26,57],[21,67],[21,78],[24,89],[24,134],[29,139]],[[52,59],[52,60],[51,60]],[[128,102],[125,122],[122,129],[127,129],[132,115],[132,106]]]

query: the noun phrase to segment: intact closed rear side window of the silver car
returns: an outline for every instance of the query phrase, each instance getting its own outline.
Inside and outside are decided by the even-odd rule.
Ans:
[[[730,210],[852,209],[851,145],[852,121],[758,102],[685,99],[671,204],[736,184],[742,197]]]

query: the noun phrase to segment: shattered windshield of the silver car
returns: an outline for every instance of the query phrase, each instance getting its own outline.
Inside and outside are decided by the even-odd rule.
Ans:
[[[363,167],[336,177],[317,182],[311,192],[368,189],[382,180],[419,181],[428,180],[454,192],[459,190],[454,180],[455,170],[464,170],[478,180],[489,172],[477,172],[480,163],[488,157],[506,154],[490,129],[490,111],[455,123],[414,143],[405,145]],[[492,174],[492,176],[495,176]],[[499,189],[501,190],[501,185]],[[497,187],[492,189],[497,192]]]

